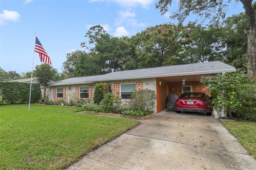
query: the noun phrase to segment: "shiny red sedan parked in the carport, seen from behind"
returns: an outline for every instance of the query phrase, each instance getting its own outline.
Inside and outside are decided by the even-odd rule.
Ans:
[[[176,100],[176,113],[186,112],[198,112],[206,113],[206,115],[212,115],[212,102],[211,97],[206,93],[183,93]]]

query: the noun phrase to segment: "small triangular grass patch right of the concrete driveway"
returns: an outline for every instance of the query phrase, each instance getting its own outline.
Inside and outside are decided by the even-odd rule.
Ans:
[[[256,123],[222,121],[222,124],[256,159]]]

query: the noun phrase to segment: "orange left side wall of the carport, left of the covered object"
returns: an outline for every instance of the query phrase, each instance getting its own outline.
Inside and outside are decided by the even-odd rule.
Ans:
[[[159,82],[161,81],[161,85]],[[168,82],[164,81],[163,79],[156,79],[156,112],[160,112],[164,110],[167,106],[167,86]]]

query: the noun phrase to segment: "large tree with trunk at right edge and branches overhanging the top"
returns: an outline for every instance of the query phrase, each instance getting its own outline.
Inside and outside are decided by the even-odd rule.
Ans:
[[[246,66],[249,81],[256,79],[256,23],[254,12],[256,10],[255,0],[239,0],[242,2],[246,14],[247,28],[244,30],[248,37]],[[177,19],[180,23],[192,14],[198,14],[203,21],[212,17],[212,21],[219,21],[225,18],[228,6],[232,0],[180,0],[178,10],[170,15],[170,18]],[[238,4],[238,0],[236,0]],[[156,8],[164,15],[171,8],[172,0],[159,0]],[[198,21],[198,20],[196,20]]]

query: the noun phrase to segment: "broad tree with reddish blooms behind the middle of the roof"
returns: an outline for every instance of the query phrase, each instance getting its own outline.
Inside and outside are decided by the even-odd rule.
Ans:
[[[191,42],[193,24],[176,26],[159,24],[148,27],[133,37],[141,67],[161,67],[179,63],[179,55]]]

